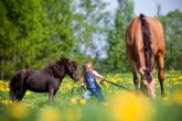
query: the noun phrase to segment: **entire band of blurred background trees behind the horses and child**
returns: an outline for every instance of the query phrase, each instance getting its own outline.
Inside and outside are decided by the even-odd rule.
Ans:
[[[114,13],[101,0],[0,0],[0,78],[21,68],[41,69],[62,56],[98,72],[129,70],[125,33],[133,18],[132,0],[118,0]],[[182,13],[160,15],[164,26],[165,68],[181,69]],[[81,67],[81,66],[79,66]]]

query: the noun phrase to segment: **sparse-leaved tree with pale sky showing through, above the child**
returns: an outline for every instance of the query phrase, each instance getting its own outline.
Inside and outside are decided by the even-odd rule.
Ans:
[[[103,36],[106,33],[105,22],[108,19],[105,7],[106,3],[101,0],[82,0],[78,3],[74,18],[76,38],[74,51],[85,57],[98,57],[103,51],[104,46],[100,44],[105,43]]]

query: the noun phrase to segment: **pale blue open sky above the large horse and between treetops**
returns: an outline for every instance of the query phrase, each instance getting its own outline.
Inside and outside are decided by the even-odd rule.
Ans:
[[[114,12],[117,8],[117,0],[104,0],[108,2],[107,10]],[[182,11],[182,0],[133,0],[135,15],[144,13],[149,16],[157,14],[157,4],[161,4],[161,14],[167,14],[169,11],[179,9]]]

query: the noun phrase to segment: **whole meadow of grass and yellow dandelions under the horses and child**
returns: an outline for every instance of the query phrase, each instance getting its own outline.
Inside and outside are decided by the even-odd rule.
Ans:
[[[133,89],[132,76],[108,74],[105,77],[118,85]],[[156,77],[157,99],[125,91],[105,82],[105,97],[98,102],[93,97],[88,102],[82,99],[84,89],[77,91],[79,82],[66,77],[54,98],[47,94],[26,91],[21,102],[8,100],[9,81],[0,80],[0,121],[181,121],[182,120],[182,72],[165,72],[167,97],[160,97],[160,86]],[[71,92],[73,90],[73,94]]]

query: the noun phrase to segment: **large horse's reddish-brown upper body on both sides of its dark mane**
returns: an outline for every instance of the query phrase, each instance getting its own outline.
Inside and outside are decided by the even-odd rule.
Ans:
[[[152,53],[154,55],[159,51],[164,53],[164,36],[163,36],[163,28],[161,23],[154,18],[144,16],[144,19],[149,24],[149,31],[151,37],[150,46]],[[139,16],[135,18],[127,29],[126,44],[127,44],[127,52],[129,53],[130,56],[137,55],[133,54],[133,52],[143,53],[144,43],[143,43],[143,34],[141,30],[141,21]]]

